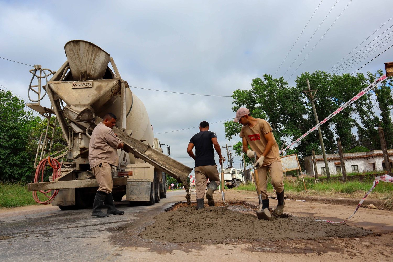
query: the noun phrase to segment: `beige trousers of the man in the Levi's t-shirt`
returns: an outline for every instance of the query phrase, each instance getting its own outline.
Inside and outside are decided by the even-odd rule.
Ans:
[[[262,199],[268,199],[267,194],[267,173],[270,172],[270,177],[272,180],[272,185],[277,193],[281,193],[284,190],[283,183],[283,165],[281,161],[276,161],[270,165],[260,167],[257,169],[259,178],[259,187],[261,188]]]

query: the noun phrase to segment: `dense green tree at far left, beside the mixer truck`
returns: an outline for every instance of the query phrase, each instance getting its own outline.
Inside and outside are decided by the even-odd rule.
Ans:
[[[26,147],[39,117],[24,110],[24,103],[11,92],[0,92],[0,180],[31,181],[34,170]]]

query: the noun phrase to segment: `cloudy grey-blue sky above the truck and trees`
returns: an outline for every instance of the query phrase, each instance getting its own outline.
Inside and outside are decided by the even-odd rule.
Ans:
[[[252,79],[265,73],[284,76],[294,86],[302,72],[329,71],[374,39],[365,48],[370,47],[370,53],[336,73],[353,73],[391,46],[391,10],[389,0],[46,1],[44,5],[0,0],[0,57],[24,63],[0,59],[0,88],[28,103],[32,76],[28,65],[58,70],[66,60],[64,44],[73,39],[93,42],[110,53],[122,79],[134,87],[230,96],[236,89],[249,89]],[[392,60],[393,47],[358,72],[384,69],[384,62]],[[225,139],[223,120],[235,117],[231,97],[131,90],[145,104],[155,137],[189,167],[194,161],[186,148],[201,121],[214,123],[209,130],[217,134],[220,146],[240,141],[240,137]],[[48,106],[48,100],[42,104]],[[189,129],[170,132],[185,128]],[[234,156],[235,167],[240,167],[239,158]]]

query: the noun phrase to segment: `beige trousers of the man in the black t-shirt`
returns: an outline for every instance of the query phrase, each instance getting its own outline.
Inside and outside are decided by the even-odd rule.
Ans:
[[[195,167],[195,191],[196,199],[203,199],[206,194],[206,184],[208,178],[210,183],[220,185],[219,171],[217,165]]]

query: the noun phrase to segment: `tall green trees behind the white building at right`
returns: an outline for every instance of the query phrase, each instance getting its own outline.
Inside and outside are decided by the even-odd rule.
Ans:
[[[264,74],[262,79],[252,80],[249,90],[233,92],[232,109],[236,112],[240,107],[247,107],[253,117],[266,119],[272,126],[277,144],[281,147],[284,141],[293,141],[316,125],[311,100],[303,93],[308,90],[307,78],[310,88],[318,90],[314,101],[321,121],[380,75],[381,70],[375,74],[368,72],[366,75],[358,73],[354,76],[332,75],[324,71],[304,72],[296,78],[296,86],[290,87],[283,77],[275,79]],[[378,126],[384,128],[386,142],[390,145],[393,141],[392,86],[393,78],[389,77],[373,92],[367,93],[321,126],[328,154],[338,152],[338,138],[345,151],[359,146],[371,150],[380,149]],[[241,125],[233,121],[224,123],[227,139],[237,136],[240,129]],[[235,152],[240,155],[241,147],[238,149]],[[313,149],[316,154],[321,154],[318,132],[310,133],[286,153],[297,153],[302,161]]]

